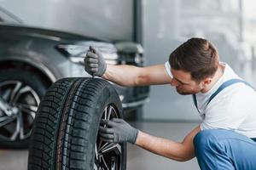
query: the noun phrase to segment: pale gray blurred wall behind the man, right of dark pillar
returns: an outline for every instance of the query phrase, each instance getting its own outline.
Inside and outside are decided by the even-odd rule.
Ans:
[[[189,37],[205,37],[218,48],[222,61],[256,87],[256,58],[255,52],[252,53],[255,38],[243,37],[256,31],[256,19],[247,20],[241,4],[241,0],[144,0],[147,65],[166,62],[172,50]],[[200,117],[191,96],[178,95],[175,89],[165,85],[151,87],[143,119],[199,121]]]

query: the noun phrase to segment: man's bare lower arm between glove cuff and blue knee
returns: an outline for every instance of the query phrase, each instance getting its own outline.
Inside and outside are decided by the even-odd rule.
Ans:
[[[195,157],[193,139],[201,131],[200,126],[195,127],[184,139],[182,143],[177,143],[169,139],[151,136],[141,131],[137,134],[136,143],[145,150],[154,154],[165,156],[176,161],[189,161]]]

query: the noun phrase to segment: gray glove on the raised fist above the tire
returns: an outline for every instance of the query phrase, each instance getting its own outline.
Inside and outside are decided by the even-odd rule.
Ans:
[[[107,69],[107,64],[102,56],[102,53],[97,49],[90,46],[84,58],[84,70],[92,76],[102,77]]]

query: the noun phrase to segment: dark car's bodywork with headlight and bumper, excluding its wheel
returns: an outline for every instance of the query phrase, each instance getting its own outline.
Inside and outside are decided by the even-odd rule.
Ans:
[[[61,31],[0,25],[0,70],[28,69],[49,85],[63,77],[90,77],[83,62],[90,45],[102,51],[108,64],[143,66],[143,49],[133,42],[113,43]],[[148,99],[148,87],[115,88],[125,109],[134,109]]]

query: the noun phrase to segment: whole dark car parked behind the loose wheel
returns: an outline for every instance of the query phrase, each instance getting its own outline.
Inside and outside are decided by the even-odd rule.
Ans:
[[[91,77],[84,71],[84,56],[90,45],[102,51],[108,64],[143,66],[143,48],[135,42],[112,42],[20,23],[9,24],[1,16],[2,148],[27,147],[38,105],[52,83],[63,77]],[[111,83],[126,115],[142,111],[148,100],[148,86],[128,88]]]

